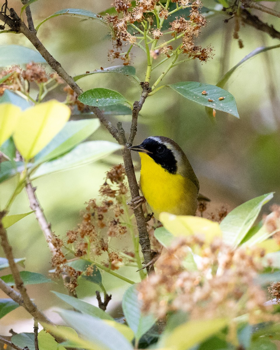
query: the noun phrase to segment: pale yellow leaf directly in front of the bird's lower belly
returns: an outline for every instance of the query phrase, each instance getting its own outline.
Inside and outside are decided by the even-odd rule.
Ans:
[[[175,237],[205,235],[206,243],[210,243],[216,236],[222,237],[219,224],[205,218],[162,212],[160,221]]]

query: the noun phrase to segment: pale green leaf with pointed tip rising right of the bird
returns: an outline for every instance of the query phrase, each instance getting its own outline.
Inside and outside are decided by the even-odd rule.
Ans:
[[[251,199],[233,209],[221,222],[223,240],[226,244],[237,247],[253,226],[262,206],[271,200],[273,193]]]

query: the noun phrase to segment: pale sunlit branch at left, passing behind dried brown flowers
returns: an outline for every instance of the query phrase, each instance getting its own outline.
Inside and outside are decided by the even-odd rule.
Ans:
[[[32,183],[27,178],[27,184],[25,186],[26,193],[28,196],[30,208],[35,211],[36,219],[38,220],[38,223],[41,227],[42,232],[44,233],[44,236],[47,240],[47,243],[49,245],[50,251],[53,256],[57,254],[56,247],[51,243],[52,241],[52,230],[51,230],[51,224],[48,223],[47,218],[45,217],[43,208],[41,207],[40,203],[38,202],[38,199],[36,197],[35,191],[36,187],[32,186]],[[68,287],[68,281],[67,281],[67,274],[62,276],[64,286],[67,288],[69,295],[77,297],[77,294],[73,292]],[[68,276],[69,277],[69,276]]]

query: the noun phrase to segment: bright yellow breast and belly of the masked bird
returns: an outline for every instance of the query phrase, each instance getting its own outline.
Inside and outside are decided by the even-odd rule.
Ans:
[[[194,215],[197,207],[195,184],[180,174],[170,174],[145,153],[140,153],[140,157],[140,187],[155,217],[162,211]]]

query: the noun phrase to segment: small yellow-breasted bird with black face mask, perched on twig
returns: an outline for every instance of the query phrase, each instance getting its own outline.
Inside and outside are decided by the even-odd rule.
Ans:
[[[194,215],[199,182],[181,147],[163,136],[151,136],[128,147],[141,158],[140,188],[156,218],[162,211]]]

